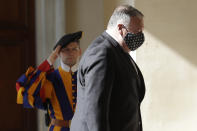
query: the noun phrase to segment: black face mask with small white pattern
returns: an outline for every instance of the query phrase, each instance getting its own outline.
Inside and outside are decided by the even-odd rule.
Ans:
[[[134,51],[144,43],[144,34],[142,32],[139,32],[137,34],[128,32],[124,40],[127,47],[131,51]]]

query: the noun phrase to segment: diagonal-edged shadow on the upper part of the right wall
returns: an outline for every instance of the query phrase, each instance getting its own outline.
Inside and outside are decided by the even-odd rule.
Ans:
[[[136,0],[145,15],[145,29],[197,66],[197,1]]]

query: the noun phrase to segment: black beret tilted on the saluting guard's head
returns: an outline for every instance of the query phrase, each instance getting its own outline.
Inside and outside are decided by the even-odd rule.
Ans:
[[[60,40],[54,46],[53,50],[55,50],[55,48],[58,45],[61,45],[61,48],[66,47],[69,43],[74,42],[74,41],[78,41],[81,38],[81,36],[82,36],[82,31],[66,34],[66,35],[62,36],[62,38],[60,38]]]

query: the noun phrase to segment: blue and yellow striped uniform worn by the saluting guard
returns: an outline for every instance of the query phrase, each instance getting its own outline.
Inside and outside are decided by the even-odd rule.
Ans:
[[[70,73],[61,67],[52,70],[47,61],[37,69],[30,67],[16,83],[17,103],[25,108],[44,108],[49,100],[50,117],[71,120],[77,97],[77,72]],[[69,127],[49,126],[49,131],[69,131]]]

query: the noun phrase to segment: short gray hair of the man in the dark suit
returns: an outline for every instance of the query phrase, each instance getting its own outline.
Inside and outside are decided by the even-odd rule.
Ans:
[[[139,18],[143,18],[144,15],[139,10],[132,7],[131,5],[118,6],[114,10],[108,22],[107,28],[113,28],[117,24],[124,24],[126,27],[128,27],[131,17],[135,17],[135,16]]]

